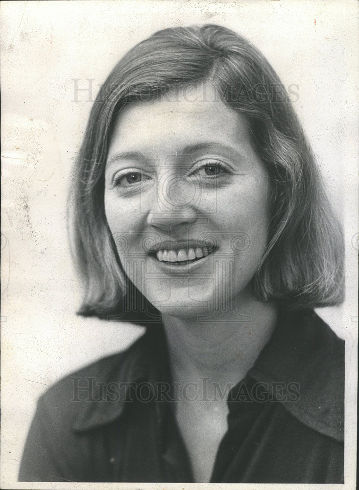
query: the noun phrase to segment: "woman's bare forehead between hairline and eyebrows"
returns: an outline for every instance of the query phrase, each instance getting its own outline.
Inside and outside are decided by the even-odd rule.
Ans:
[[[164,153],[173,153],[201,141],[233,147],[249,144],[245,118],[219,100],[211,85],[128,104],[116,121],[109,157],[114,151],[146,151],[158,146]]]

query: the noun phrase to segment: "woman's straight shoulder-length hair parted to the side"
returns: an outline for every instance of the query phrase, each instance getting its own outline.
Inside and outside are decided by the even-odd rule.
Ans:
[[[287,93],[247,40],[227,28],[204,25],[165,29],[139,43],[115,66],[96,98],[69,199],[85,292],[79,314],[123,317],[132,308],[128,298],[136,294],[124,277],[104,210],[104,169],[119,112],[131,101],[156,100],[204,82],[246,118],[272,183],[269,240],[253,294],[287,309],[342,302],[342,233]],[[128,287],[131,293],[125,295]],[[150,313],[141,301],[140,310]]]

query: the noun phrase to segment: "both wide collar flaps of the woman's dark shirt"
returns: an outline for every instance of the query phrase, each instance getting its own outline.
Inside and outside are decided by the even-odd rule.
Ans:
[[[94,376],[99,384],[168,380],[167,352],[164,329],[152,326],[125,352],[100,361]],[[280,383],[285,392],[296,383],[299,399],[279,400],[287,411],[312,429],[343,441],[343,359],[344,342],[313,311],[282,312],[248,375],[270,386]],[[73,429],[86,431],[113,422],[130,405],[125,394],[121,392],[117,402],[82,403]]]

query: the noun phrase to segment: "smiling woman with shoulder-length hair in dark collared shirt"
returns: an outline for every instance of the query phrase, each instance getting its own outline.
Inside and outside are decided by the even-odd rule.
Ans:
[[[96,98],[71,202],[79,314],[125,352],[41,397],[20,480],[343,482],[343,248],[263,55],[217,26],[159,31]]]

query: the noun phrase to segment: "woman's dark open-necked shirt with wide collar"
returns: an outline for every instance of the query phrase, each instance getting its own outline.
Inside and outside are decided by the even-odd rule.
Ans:
[[[193,482],[174,395],[148,328],[40,397],[20,481]],[[344,342],[314,312],[280,315],[228,407],[211,482],[343,483]]]

